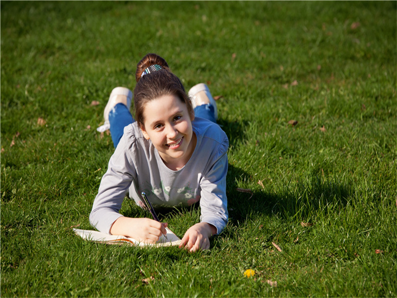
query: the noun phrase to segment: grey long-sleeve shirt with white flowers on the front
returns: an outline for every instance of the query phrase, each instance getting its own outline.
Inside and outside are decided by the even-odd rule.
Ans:
[[[142,206],[144,191],[156,207],[190,206],[200,202],[201,222],[213,224],[219,234],[228,221],[226,198],[227,149],[229,141],[222,129],[202,118],[192,122],[197,136],[196,148],[186,165],[169,169],[137,123],[124,129],[124,135],[102,177],[90,214],[90,223],[101,232],[110,233],[124,197],[129,191]]]

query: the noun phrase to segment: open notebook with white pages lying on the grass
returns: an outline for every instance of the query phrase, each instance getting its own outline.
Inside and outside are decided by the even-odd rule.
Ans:
[[[129,244],[132,246],[147,246],[147,247],[161,247],[161,246],[172,246],[181,244],[181,239],[177,235],[175,235],[169,228],[167,230],[167,238],[162,235],[160,239],[154,244],[151,243],[143,243],[139,242],[130,237],[120,236],[120,235],[109,235],[99,231],[93,230],[82,230],[78,228],[73,228],[73,231],[76,235],[81,238],[105,244]]]

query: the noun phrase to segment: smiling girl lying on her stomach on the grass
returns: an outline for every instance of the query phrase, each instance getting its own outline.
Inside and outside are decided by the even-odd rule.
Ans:
[[[167,62],[147,54],[138,63],[132,92],[113,89],[105,107],[115,152],[102,177],[90,214],[98,230],[156,242],[167,223],[128,218],[119,213],[125,194],[143,207],[144,191],[153,207],[190,206],[200,202],[200,223],[191,226],[180,247],[209,249],[209,238],[228,221],[226,134],[215,124],[216,103],[205,84],[186,94]],[[100,130],[99,128],[98,130]]]

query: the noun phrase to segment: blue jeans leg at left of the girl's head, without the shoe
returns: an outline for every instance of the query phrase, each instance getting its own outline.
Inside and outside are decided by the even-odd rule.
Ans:
[[[116,148],[124,134],[124,128],[135,122],[130,109],[123,103],[116,104],[109,112],[110,135]]]

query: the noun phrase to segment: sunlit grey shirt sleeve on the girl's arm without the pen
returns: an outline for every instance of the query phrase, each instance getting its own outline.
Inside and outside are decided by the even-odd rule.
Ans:
[[[226,198],[226,174],[228,168],[227,149],[229,141],[225,135],[212,158],[209,170],[204,173],[200,181],[201,188],[201,217],[200,221],[212,224],[219,234],[228,222]]]

